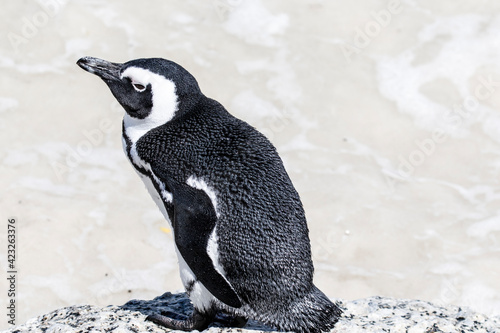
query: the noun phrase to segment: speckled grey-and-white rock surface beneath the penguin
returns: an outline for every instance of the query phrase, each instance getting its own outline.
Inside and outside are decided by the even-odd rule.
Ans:
[[[338,304],[344,315],[332,332],[500,332],[500,317],[488,318],[458,306],[378,296],[338,301]],[[191,310],[185,294],[165,293],[154,300],[132,300],[122,306],[70,306],[33,318],[5,332],[169,332],[145,321],[146,316],[162,311],[186,315]],[[223,328],[223,320],[219,318],[206,332],[273,331],[255,321],[249,321],[243,329]]]

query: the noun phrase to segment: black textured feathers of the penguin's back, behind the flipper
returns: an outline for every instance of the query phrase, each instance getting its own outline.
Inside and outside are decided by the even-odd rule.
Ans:
[[[312,294],[320,293],[319,308],[335,308],[313,286],[302,203],[264,135],[202,96],[189,112],[141,137],[137,152],[147,162],[159,161],[177,182],[194,175],[215,190],[219,261],[231,286],[250,306],[242,311],[278,328],[294,329],[288,325],[294,319],[285,317],[299,316],[291,313],[300,310],[296,303],[318,298]],[[166,208],[172,220],[171,207]]]

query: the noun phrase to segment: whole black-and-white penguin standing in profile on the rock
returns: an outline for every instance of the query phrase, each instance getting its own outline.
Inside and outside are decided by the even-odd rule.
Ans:
[[[182,282],[204,329],[217,312],[281,330],[330,330],[341,315],[313,284],[306,218],[274,146],[204,96],[195,78],[165,59],[124,64],[84,57],[126,111],[123,146],[170,222]]]

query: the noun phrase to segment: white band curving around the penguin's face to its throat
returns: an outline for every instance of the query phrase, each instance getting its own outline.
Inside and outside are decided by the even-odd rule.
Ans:
[[[147,69],[131,66],[123,71],[120,78],[129,79],[130,84],[139,94],[151,86],[150,113],[143,119],[135,118],[128,113],[123,118],[125,134],[134,144],[148,131],[171,120],[178,109],[179,101],[175,83]]]

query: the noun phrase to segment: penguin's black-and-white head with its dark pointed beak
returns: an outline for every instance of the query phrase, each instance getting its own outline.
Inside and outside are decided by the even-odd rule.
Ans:
[[[188,112],[202,96],[196,79],[166,59],[136,59],[119,64],[83,57],[77,64],[99,76],[135,120],[164,124]]]

